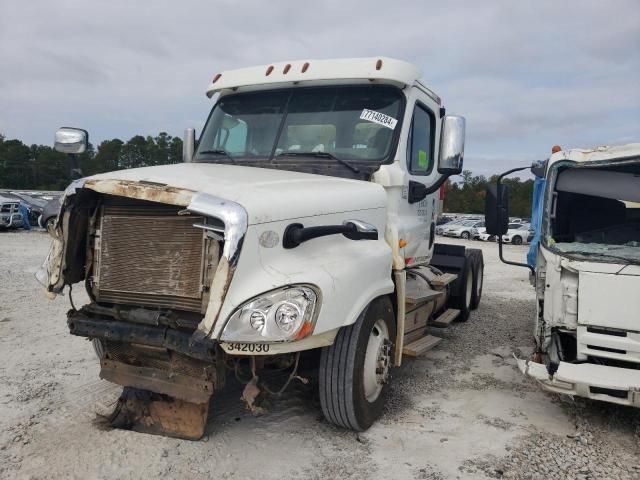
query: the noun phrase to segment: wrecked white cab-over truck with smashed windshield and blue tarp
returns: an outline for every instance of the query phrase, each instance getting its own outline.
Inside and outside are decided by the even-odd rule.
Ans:
[[[640,407],[640,144],[559,151],[532,171],[536,350],[518,365],[546,390]],[[504,185],[486,213],[504,233]]]

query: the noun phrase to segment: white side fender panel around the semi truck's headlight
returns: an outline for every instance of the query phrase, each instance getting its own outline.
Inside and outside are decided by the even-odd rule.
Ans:
[[[306,283],[317,286],[322,295],[314,336],[354,323],[374,298],[392,293],[391,249],[384,238],[353,241],[342,235],[320,237],[293,249],[282,244],[262,247],[258,239],[265,231],[282,232],[290,223],[304,226],[336,225],[358,219],[385,228],[385,210],[372,209],[264,223],[249,228],[238,266],[214,326],[213,338],[219,338],[226,319],[242,303],[283,285]],[[300,349],[299,342],[280,351]],[[283,344],[284,345],[284,344]]]

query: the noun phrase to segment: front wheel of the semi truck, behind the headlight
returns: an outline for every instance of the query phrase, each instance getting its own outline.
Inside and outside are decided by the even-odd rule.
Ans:
[[[395,336],[391,301],[380,297],[322,349],[318,386],[329,422],[361,432],[382,415]]]

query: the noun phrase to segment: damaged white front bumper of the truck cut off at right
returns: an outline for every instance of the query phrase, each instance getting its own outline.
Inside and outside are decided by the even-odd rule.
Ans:
[[[516,358],[518,368],[550,392],[640,407],[640,370],[560,362],[550,375],[546,365]]]

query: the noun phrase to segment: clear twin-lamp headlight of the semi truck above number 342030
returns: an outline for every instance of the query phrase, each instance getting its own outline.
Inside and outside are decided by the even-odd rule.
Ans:
[[[318,291],[307,285],[280,288],[241,305],[222,330],[223,342],[286,342],[315,326]]]

